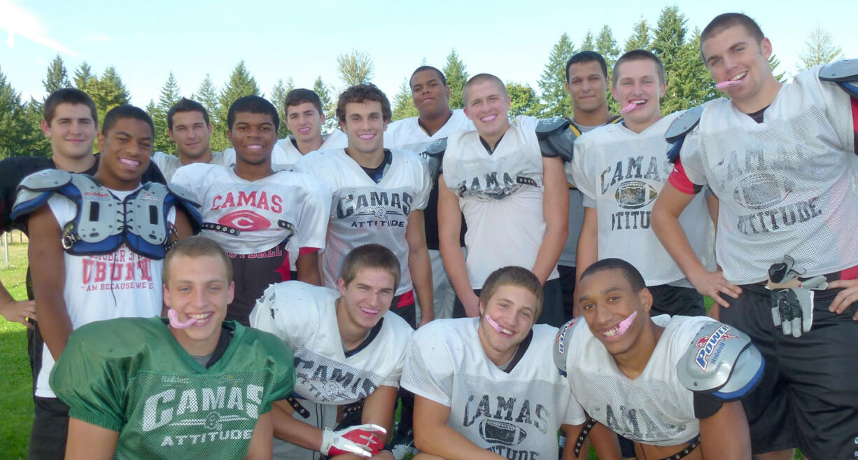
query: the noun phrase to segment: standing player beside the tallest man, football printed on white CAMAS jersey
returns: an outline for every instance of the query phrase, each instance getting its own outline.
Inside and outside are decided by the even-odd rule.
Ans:
[[[585,206],[576,267],[585,270],[596,260],[623,257],[641,267],[656,299],[652,314],[704,315],[703,296],[650,227],[653,203],[671,170],[664,133],[678,116],[662,118],[659,100],[666,85],[664,66],[655,54],[626,52],[613,65],[611,87],[624,107],[622,123],[607,124],[575,140],[566,171],[583,193]],[[695,254],[714,268],[713,230],[703,193],[683,212],[681,222],[694,235]]]

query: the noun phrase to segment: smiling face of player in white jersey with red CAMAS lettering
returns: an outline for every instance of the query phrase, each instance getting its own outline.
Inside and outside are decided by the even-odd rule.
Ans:
[[[277,142],[277,128],[269,113],[236,112],[228,132],[235,148],[235,160],[248,165],[271,162],[271,150]]]

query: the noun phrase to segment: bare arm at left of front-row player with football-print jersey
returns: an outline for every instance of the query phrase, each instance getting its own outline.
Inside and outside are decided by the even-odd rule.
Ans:
[[[450,408],[423,396],[414,396],[414,445],[421,452],[446,460],[501,460],[447,425]]]

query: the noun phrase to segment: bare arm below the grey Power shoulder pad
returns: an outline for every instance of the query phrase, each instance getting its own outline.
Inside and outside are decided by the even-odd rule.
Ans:
[[[751,460],[751,434],[740,401],[724,403],[715,415],[700,419],[700,448],[704,460]]]

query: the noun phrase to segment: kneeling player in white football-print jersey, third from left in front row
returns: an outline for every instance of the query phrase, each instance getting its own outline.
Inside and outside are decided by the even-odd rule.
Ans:
[[[557,328],[534,325],[542,298],[536,275],[505,267],[486,279],[479,318],[438,319],[414,333],[402,387],[416,396],[418,458],[553,459],[558,429],[571,439],[581,432],[583,410],[549,362]],[[603,439],[599,458],[619,458]]]

